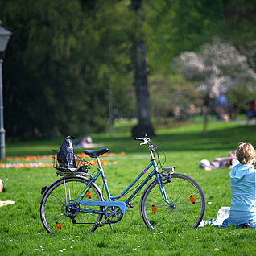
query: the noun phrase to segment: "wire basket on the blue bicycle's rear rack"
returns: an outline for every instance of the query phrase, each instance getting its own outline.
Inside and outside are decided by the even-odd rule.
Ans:
[[[88,172],[89,168],[91,167],[91,163],[86,161],[85,159],[82,159],[76,154],[69,153],[71,155],[68,155],[68,157],[72,160],[72,163],[67,162],[63,163],[63,161],[60,161],[60,153],[61,151],[53,150],[52,155],[52,166],[56,168],[59,171],[63,172]],[[59,157],[59,159],[58,159]]]

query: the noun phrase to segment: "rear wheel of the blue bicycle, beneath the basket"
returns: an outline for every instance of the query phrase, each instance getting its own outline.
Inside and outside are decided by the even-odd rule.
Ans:
[[[77,196],[88,184],[88,179],[79,176],[60,178],[51,184],[44,192],[40,217],[44,228],[48,233],[89,233],[97,229],[103,217],[102,213],[82,213],[80,206],[76,204],[77,210],[68,212],[68,204],[76,199]],[[101,190],[96,184],[90,184],[88,191],[91,198],[85,196],[83,200],[103,200]],[[68,204],[67,204],[68,202]],[[86,206],[86,209],[103,210],[101,206]]]

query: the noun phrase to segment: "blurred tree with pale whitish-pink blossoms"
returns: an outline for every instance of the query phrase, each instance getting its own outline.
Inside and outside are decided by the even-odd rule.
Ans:
[[[231,88],[255,91],[256,73],[247,63],[246,56],[231,43],[213,39],[212,43],[204,44],[200,52],[183,52],[176,61],[180,72],[188,79],[198,81],[198,89],[204,93],[204,133],[207,133],[210,98]],[[243,102],[246,101],[248,98],[244,97]],[[238,102],[232,103],[238,105]]]

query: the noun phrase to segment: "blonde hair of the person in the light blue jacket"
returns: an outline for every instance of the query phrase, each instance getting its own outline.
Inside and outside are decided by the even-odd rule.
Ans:
[[[250,143],[240,142],[236,151],[237,159],[242,164],[250,163],[255,159],[255,150]]]

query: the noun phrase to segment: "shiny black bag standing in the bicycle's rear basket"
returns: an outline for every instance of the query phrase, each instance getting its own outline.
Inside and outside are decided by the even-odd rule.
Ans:
[[[60,164],[60,167],[77,168],[71,138],[73,137],[68,136],[65,138],[60,147],[60,151],[57,155],[57,160]]]

